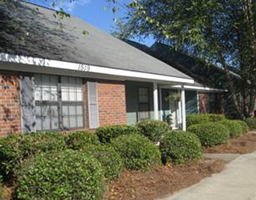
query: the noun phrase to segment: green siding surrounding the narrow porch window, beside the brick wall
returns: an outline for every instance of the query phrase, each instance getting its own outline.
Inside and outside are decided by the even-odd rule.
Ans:
[[[138,88],[149,88],[150,118],[154,118],[153,83],[126,81],[126,115],[127,124],[135,124],[138,121]]]

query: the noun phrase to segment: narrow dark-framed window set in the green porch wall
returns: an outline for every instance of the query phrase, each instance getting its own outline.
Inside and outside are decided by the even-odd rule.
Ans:
[[[148,88],[138,88],[139,120],[150,118]]]

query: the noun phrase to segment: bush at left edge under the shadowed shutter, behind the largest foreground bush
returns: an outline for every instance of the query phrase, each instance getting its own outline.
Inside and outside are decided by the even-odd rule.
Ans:
[[[41,132],[11,135],[0,140],[0,166],[5,180],[16,177],[16,171],[27,157],[49,150],[66,148],[60,133]]]

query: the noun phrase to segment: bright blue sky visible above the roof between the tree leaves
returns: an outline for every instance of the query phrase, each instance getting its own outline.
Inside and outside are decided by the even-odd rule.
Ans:
[[[112,12],[112,4],[107,2],[107,0],[60,0],[60,4],[71,16],[77,16],[93,26],[107,33],[111,33],[111,31],[114,30],[114,19],[126,16],[127,10],[122,5],[130,1],[131,0],[119,0],[119,10],[116,14]],[[47,7],[51,7],[52,5],[52,0],[29,0],[29,2]],[[147,46],[151,46],[154,43],[153,38],[143,40],[134,39],[134,41]]]

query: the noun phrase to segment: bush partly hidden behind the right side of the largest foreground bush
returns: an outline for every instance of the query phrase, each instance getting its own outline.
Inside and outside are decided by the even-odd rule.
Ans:
[[[124,164],[120,155],[113,147],[106,145],[91,145],[87,146],[87,148],[84,149],[84,152],[98,159],[105,171],[105,177],[108,180],[119,178],[121,171],[124,168]]]

